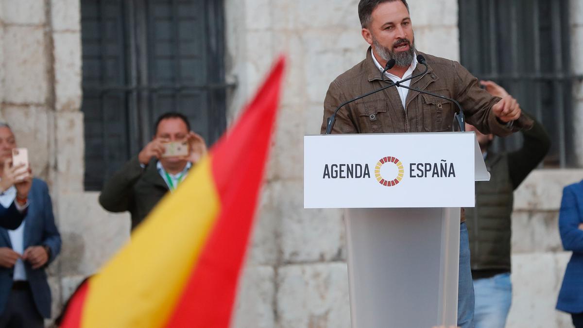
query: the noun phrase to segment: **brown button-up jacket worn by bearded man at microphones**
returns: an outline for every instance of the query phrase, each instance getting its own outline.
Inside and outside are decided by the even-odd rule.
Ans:
[[[417,54],[422,54],[417,52]],[[410,88],[427,90],[453,98],[461,104],[466,121],[485,134],[501,137],[521,129],[532,127],[532,120],[522,115],[512,128],[497,120],[492,106],[500,98],[491,96],[480,88],[477,78],[459,62],[422,54],[429,65],[426,74],[411,81]],[[425,67],[417,64],[413,75],[423,72]],[[381,72],[374,64],[371,48],[366,59],[336,78],[324,99],[324,120],[321,133],[326,131],[326,121],[336,107],[346,100],[386,86]],[[347,104],[336,114],[332,133],[394,133],[394,132],[441,132],[452,131],[455,104],[448,100],[409,90],[406,110],[396,88],[388,88],[368,97]],[[462,222],[465,217],[462,211]]]

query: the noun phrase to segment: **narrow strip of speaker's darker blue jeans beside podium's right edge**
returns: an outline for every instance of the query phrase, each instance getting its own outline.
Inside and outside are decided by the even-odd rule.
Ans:
[[[459,225],[458,326],[474,328],[474,290],[466,222]]]

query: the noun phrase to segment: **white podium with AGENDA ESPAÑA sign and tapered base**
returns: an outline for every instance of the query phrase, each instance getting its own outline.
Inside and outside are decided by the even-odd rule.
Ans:
[[[456,326],[460,208],[489,179],[473,132],[304,137],[304,208],[345,208],[353,328]]]

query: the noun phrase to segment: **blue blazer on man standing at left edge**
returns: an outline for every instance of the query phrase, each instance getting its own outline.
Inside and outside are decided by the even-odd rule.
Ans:
[[[59,235],[55,225],[55,217],[52,214],[51,196],[49,196],[47,184],[43,180],[33,179],[29,192],[29,207],[24,219],[26,220],[23,236],[24,249],[29,246],[41,245],[50,247],[51,256],[45,264],[46,266],[61,251],[61,235]],[[0,247],[12,248],[8,231],[4,228],[0,228]],[[51,317],[51,289],[48,287],[44,267],[33,270],[26,261],[24,267],[38,312],[44,317]],[[4,312],[8,295],[12,289],[13,271],[13,268],[0,268],[0,313]]]

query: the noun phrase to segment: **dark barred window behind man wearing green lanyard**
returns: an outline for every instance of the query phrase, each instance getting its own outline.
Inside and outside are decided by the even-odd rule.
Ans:
[[[222,1],[82,0],[85,189],[178,111],[210,144],[226,127]]]

